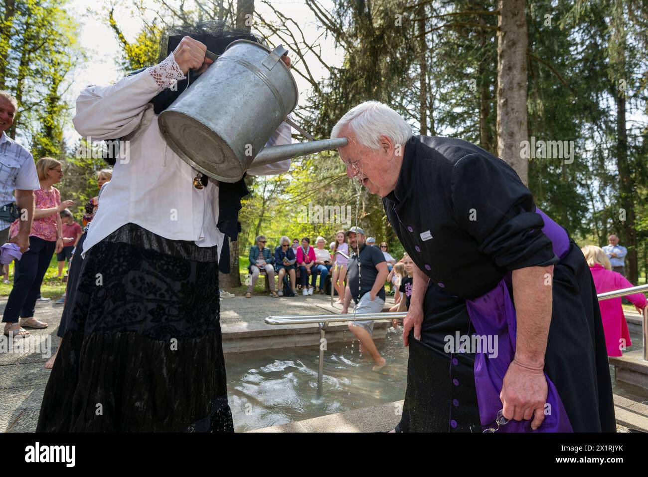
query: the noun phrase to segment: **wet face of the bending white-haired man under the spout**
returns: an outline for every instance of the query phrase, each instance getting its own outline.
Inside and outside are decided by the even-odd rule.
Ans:
[[[345,128],[340,137],[349,138],[345,147],[340,147],[338,152],[342,162],[347,167],[347,176],[354,178],[372,194],[385,197],[396,187],[399,178],[402,153],[396,155],[397,148],[402,151],[402,146],[391,142],[387,136],[380,136],[380,147],[369,149],[356,141],[355,133]]]

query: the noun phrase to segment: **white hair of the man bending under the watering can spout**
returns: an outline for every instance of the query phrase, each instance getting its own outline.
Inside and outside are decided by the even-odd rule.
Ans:
[[[407,121],[379,101],[364,101],[349,110],[331,130],[331,139],[339,138],[340,131],[347,126],[355,133],[358,143],[370,149],[380,149],[380,136],[387,136],[394,144],[404,144],[412,136]]]

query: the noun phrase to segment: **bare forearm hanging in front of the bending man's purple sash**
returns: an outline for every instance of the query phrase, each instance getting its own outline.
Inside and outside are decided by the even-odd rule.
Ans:
[[[551,324],[553,265],[513,271],[513,300],[517,319],[515,360],[544,367]]]

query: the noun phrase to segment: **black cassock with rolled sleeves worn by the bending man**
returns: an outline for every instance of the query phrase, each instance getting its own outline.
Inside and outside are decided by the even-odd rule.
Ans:
[[[421,341],[410,334],[400,430],[481,432],[475,354],[448,354],[446,336],[474,333],[467,302],[502,280],[512,300],[511,271],[555,265],[544,371],[575,432],[616,431],[589,267],[562,228],[565,251],[554,253],[531,192],[508,164],[467,141],[414,136],[383,203],[400,242],[430,277]]]

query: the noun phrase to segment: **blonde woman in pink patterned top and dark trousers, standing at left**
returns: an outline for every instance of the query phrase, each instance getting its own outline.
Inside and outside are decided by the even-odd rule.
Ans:
[[[29,336],[24,328],[47,328],[47,323],[34,318],[34,305],[52,254],[63,249],[59,212],[74,205],[73,201],[62,203],[58,189],[52,185],[63,178],[60,162],[49,157],[40,158],[36,163],[36,171],[41,188],[34,191],[34,223],[29,235],[29,250],[20,260],[16,260],[14,287],[6,302],[2,319],[5,335],[14,338]],[[19,220],[12,223],[10,237],[17,235]]]

